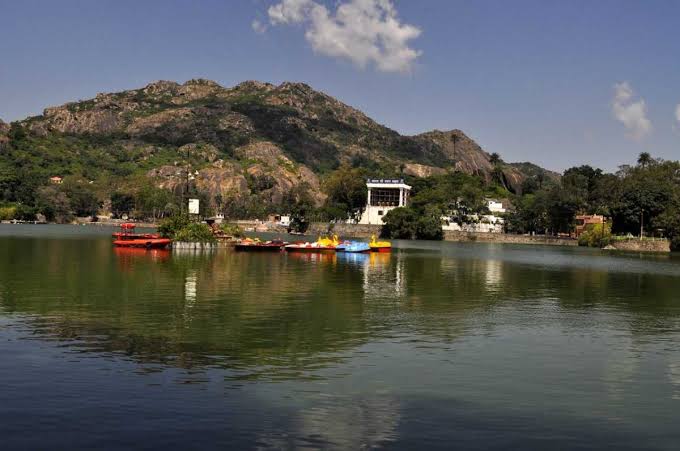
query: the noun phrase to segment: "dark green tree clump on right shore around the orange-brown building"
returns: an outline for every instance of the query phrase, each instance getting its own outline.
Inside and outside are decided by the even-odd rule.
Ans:
[[[568,233],[577,213],[610,219],[616,235],[664,236],[680,250],[680,162],[643,153],[635,166],[616,174],[580,166],[568,169],[558,184],[516,197],[507,227],[517,233]],[[587,240],[589,238],[584,238]]]

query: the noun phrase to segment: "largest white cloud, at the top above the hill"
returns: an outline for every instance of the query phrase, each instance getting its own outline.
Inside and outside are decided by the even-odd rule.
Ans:
[[[267,13],[272,25],[301,24],[314,51],[361,68],[409,72],[421,54],[409,45],[421,30],[402,23],[391,0],[346,0],[335,14],[314,0],[282,0]]]

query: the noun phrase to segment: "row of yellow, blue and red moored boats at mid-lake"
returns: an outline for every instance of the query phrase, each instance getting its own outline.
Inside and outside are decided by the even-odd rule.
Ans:
[[[375,236],[371,241],[341,241],[337,236],[319,238],[314,242],[296,241],[287,243],[282,240],[262,241],[259,238],[244,238],[235,245],[237,251],[248,252],[307,252],[307,253],[367,253],[367,252],[390,252],[392,243],[389,241],[377,241]]]

